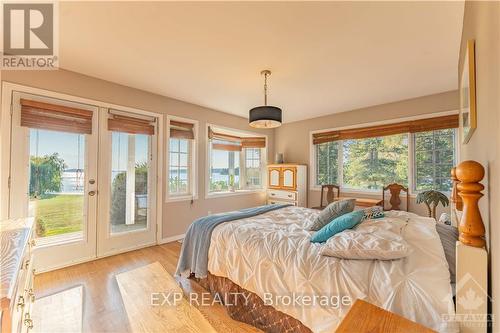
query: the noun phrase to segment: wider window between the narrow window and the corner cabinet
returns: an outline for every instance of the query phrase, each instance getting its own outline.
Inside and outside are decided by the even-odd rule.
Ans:
[[[209,193],[263,188],[265,138],[209,128]]]

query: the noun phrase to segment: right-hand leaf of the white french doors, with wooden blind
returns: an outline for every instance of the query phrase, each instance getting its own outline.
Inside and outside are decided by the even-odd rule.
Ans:
[[[157,140],[154,118],[102,110],[99,256],[156,243]]]

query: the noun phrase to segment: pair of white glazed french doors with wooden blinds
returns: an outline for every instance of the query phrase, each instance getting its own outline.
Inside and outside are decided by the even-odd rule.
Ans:
[[[36,268],[156,243],[154,117],[12,92],[9,218],[36,221]]]

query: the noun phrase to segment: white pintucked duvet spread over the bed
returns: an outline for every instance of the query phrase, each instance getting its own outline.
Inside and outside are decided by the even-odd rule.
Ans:
[[[358,298],[439,332],[458,331],[441,319],[453,314],[454,306],[448,264],[432,219],[387,212],[381,221],[404,226],[410,255],[393,261],[345,260],[320,255],[324,245],[310,242],[312,232],[303,225],[317,214],[287,207],[217,226],[208,270],[257,294],[313,332],[334,332],[349,310],[349,300]],[[336,302],[342,297],[344,305]]]

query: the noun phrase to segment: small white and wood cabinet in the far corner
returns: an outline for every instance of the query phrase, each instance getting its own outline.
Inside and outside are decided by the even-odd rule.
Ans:
[[[268,204],[307,207],[307,165],[270,164],[267,173]]]

